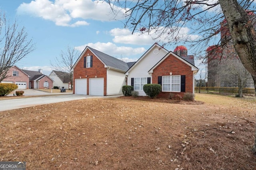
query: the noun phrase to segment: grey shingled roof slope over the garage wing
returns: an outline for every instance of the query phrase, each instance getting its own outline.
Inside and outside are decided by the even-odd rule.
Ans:
[[[129,66],[124,61],[121,61],[119,59],[116,59],[115,57],[112,57],[110,55],[107,55],[105,53],[102,53],[96,49],[93,49],[91,47],[88,47],[99,59],[106,64],[106,66],[110,66],[112,68],[117,68],[119,70],[127,71],[129,69]]]

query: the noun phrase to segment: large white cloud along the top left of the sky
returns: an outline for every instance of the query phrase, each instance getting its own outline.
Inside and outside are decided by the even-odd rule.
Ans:
[[[18,14],[27,14],[44,20],[53,21],[59,26],[80,26],[89,25],[86,21],[76,21],[78,19],[92,19],[98,21],[121,20],[124,10],[117,6],[119,12],[116,16],[112,14],[110,5],[104,1],[92,0],[33,0],[30,3],[22,3],[17,9]]]

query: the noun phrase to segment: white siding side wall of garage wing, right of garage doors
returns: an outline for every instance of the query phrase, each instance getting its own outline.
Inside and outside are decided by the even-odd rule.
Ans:
[[[124,72],[107,70],[107,96],[122,93],[122,86],[126,85]]]

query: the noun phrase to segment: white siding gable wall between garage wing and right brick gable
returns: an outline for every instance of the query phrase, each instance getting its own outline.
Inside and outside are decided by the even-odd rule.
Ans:
[[[152,76],[148,74],[148,71],[167,54],[163,49],[160,49],[158,54],[154,54],[154,51],[158,49],[159,47],[154,47],[139,63],[136,64],[136,66],[134,66],[134,68],[132,68],[132,70],[128,72],[128,85],[131,85],[131,78],[150,77],[152,79]],[[139,92],[139,96],[146,96],[143,88],[136,91]]]

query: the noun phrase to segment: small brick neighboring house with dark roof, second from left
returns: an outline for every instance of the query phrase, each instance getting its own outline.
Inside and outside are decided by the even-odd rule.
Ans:
[[[34,89],[42,89],[42,88],[53,88],[53,80],[42,73],[42,70],[39,69],[38,71],[30,71],[30,70],[22,70],[29,77],[29,88]]]

